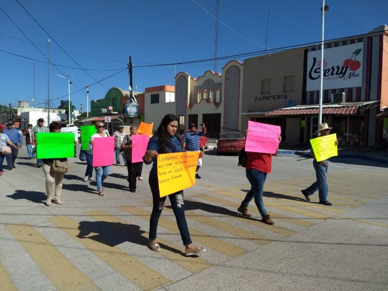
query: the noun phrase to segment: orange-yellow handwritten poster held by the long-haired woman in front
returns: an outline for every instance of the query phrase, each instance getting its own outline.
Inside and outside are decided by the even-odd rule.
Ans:
[[[158,156],[159,194],[161,197],[194,186],[199,151]]]

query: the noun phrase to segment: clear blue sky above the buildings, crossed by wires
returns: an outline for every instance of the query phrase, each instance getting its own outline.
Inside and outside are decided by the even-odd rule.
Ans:
[[[83,111],[87,84],[91,84],[89,100],[105,97],[112,87],[128,90],[129,55],[134,64],[133,90],[174,85],[175,74],[181,71],[198,78],[213,70],[213,61],[174,64],[214,57],[215,3],[0,0],[0,104],[30,101],[32,105],[35,95],[35,106],[44,106],[48,39],[49,59],[55,65],[49,68],[51,106],[59,106],[68,92],[67,81],[54,74],[73,74],[70,97],[77,109],[82,104]],[[367,33],[388,23],[388,0],[326,0],[325,4],[329,5],[326,40]],[[266,35],[267,49],[320,43],[321,6],[322,0],[219,0],[217,55],[260,55]],[[229,60],[245,58],[219,60],[217,72]]]

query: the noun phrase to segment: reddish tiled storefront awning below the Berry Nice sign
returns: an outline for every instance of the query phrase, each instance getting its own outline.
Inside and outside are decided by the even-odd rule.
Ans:
[[[357,110],[364,111],[377,106],[378,101],[348,102],[339,104],[322,105],[322,114],[354,115]],[[319,105],[298,105],[294,107],[281,108],[266,113],[265,115],[318,115]]]

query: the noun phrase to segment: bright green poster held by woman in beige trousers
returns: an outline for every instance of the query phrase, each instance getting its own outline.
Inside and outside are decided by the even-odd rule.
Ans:
[[[74,135],[64,132],[39,132],[36,135],[37,159],[74,158]]]

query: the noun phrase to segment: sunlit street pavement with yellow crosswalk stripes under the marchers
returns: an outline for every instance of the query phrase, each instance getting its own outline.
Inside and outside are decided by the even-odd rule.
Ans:
[[[212,155],[213,146],[202,179],[185,190],[191,237],[208,250],[197,257],[184,256],[169,202],[158,227],[162,251],[146,247],[149,165],[136,193],[127,168],[113,165],[100,197],[83,181],[86,163],[69,159],[64,205],[47,207],[43,171],[23,147],[16,169],[0,176],[0,289],[388,290],[384,154],[344,150],[332,159],[327,207],[318,194],[307,202],[300,193],[315,176],[307,151],[282,149],[264,187],[269,226],[253,202],[251,218],[237,212],[249,183],[236,155]]]

